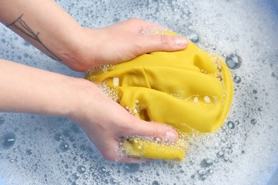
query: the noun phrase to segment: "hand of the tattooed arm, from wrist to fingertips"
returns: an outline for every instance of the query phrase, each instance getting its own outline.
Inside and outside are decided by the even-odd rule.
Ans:
[[[162,26],[132,18],[101,29],[83,28],[73,56],[65,58],[73,70],[87,70],[96,65],[131,60],[153,51],[178,51],[187,47],[181,36],[155,34],[165,31]],[[68,55],[70,56],[70,55]]]

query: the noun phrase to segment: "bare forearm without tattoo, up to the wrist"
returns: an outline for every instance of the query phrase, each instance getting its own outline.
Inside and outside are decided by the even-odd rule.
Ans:
[[[0,59],[0,112],[70,117],[78,105],[77,81]]]

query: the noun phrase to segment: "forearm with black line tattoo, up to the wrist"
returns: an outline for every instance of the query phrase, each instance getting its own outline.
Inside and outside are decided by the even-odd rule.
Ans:
[[[53,0],[1,0],[0,21],[55,60],[68,63],[82,27]],[[78,36],[78,37],[76,37]]]

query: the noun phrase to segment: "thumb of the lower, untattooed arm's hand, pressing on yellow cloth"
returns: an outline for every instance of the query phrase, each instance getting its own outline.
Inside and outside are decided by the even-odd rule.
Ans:
[[[135,122],[131,123],[131,129],[128,134],[140,137],[158,137],[165,142],[176,142],[178,134],[175,129],[167,125],[146,122],[136,117]]]

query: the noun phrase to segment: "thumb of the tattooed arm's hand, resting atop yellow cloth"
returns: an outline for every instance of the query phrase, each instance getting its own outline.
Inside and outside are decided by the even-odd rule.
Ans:
[[[140,35],[137,38],[135,51],[138,55],[154,51],[180,51],[187,47],[188,40],[181,36],[165,34]]]

